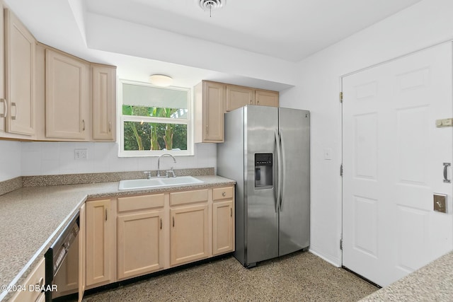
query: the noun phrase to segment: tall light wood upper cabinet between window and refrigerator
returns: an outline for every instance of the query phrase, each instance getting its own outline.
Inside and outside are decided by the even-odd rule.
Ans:
[[[202,81],[195,86],[195,143],[224,141],[226,84]]]

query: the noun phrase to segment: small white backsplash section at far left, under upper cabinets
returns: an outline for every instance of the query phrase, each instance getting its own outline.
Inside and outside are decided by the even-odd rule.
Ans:
[[[0,141],[0,181],[21,176],[21,143]]]

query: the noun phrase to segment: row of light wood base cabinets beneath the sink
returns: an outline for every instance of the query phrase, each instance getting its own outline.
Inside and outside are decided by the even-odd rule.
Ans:
[[[232,252],[234,187],[88,201],[85,232],[86,289]]]

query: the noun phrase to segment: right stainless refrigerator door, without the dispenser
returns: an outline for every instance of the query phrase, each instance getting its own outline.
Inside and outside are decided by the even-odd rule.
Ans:
[[[282,199],[279,255],[310,245],[310,112],[280,108]]]

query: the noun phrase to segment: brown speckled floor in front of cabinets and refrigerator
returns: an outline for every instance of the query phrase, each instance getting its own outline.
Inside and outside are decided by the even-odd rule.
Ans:
[[[310,252],[244,268],[234,257],[85,296],[84,301],[358,301],[377,287]]]

